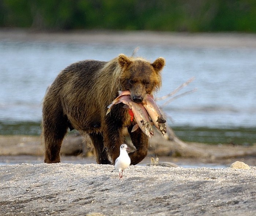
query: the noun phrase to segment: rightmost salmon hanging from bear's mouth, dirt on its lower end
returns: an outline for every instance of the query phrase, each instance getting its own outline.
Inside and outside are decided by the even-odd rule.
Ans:
[[[166,120],[163,118],[163,115],[156,102],[154,101],[153,96],[149,94],[146,95],[146,98],[142,101],[142,104],[145,107],[153,124],[164,135],[166,133]]]

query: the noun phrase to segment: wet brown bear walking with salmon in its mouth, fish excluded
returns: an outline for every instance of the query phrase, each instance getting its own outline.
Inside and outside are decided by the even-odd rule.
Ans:
[[[131,121],[123,104],[106,115],[107,106],[118,91],[130,90],[131,99],[140,103],[162,84],[162,57],[153,63],[120,54],[111,61],[85,60],[71,64],[59,73],[49,87],[42,107],[42,138],[45,163],[60,162],[60,147],[70,128],[88,134],[94,145],[97,163],[111,164],[119,156],[127,127],[136,151],[130,152],[131,164],[137,164],[148,152],[148,137],[140,130],[131,133]]]

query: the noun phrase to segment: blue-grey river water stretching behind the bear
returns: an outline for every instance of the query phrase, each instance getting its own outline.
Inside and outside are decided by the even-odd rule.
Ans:
[[[0,134],[19,134],[24,130],[34,134],[33,130],[40,130],[45,91],[69,64],[85,59],[109,61],[120,53],[130,56],[136,46],[139,44],[0,41]],[[193,128],[197,136],[201,133],[202,137],[209,130],[200,128],[225,129],[229,134],[234,128],[247,128],[249,132],[243,133],[243,142],[256,140],[256,49],[156,44],[140,46],[137,56],[150,61],[159,56],[166,59],[163,85],[157,97],[195,77],[177,94],[194,88],[196,92],[164,106],[166,101],[157,102],[167,114],[171,127]],[[28,128],[25,122],[29,122]],[[23,126],[17,127],[19,124]],[[33,127],[33,124],[36,125]],[[181,130],[182,133],[189,131]],[[235,130],[230,136],[239,136],[239,133],[240,130]]]

